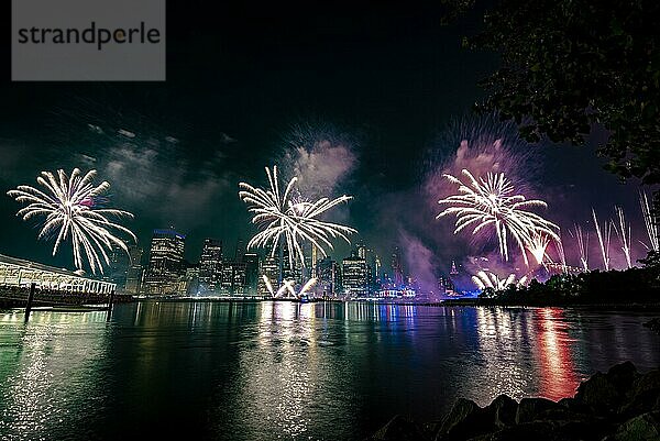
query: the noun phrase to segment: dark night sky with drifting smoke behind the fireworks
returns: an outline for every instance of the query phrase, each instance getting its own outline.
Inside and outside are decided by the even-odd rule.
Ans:
[[[461,48],[483,11],[442,26],[437,1],[356,3],[169,1],[166,82],[11,82],[6,63],[2,192],[34,184],[42,169],[97,168],[112,205],[135,213],[129,227],[142,246],[152,229],[174,225],[194,262],[206,236],[222,239],[230,253],[239,236],[250,238],[238,183],[265,185],[264,166],[286,169],[295,157],[296,133],[316,134],[344,147],[332,166],[345,167],[326,188],[307,184],[354,195],[333,219],[358,228],[378,253],[398,244],[408,267],[421,260],[428,265],[419,271],[446,272],[452,258],[487,252],[448,234],[452,222],[435,220],[438,198],[425,192],[460,142],[448,142],[452,121],[476,118],[476,82],[498,63]],[[9,60],[7,42],[2,49]],[[592,206],[610,217],[618,203],[642,239],[637,185],[604,172],[593,147],[522,148],[534,153],[520,167],[536,172],[520,174],[530,194],[548,200],[549,218],[586,225]],[[70,249],[51,257],[18,208],[0,198],[0,253],[70,267]],[[348,252],[339,246],[336,256]]]

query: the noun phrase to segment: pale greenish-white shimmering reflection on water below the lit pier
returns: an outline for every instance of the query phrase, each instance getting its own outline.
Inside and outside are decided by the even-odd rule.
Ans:
[[[86,404],[105,400],[86,374],[100,368],[106,315],[33,312],[26,324],[23,317],[0,316],[0,434],[62,438],[63,422],[85,419]],[[89,432],[82,427],[79,433]]]

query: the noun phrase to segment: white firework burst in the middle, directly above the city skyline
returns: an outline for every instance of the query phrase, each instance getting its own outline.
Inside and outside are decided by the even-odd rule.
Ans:
[[[351,243],[348,235],[356,233],[356,230],[317,219],[331,208],[351,200],[350,196],[306,201],[302,197],[293,197],[297,177],[292,178],[284,191],[280,191],[277,166],[273,166],[272,172],[266,167],[266,176],[270,184],[267,190],[246,183],[239,184],[239,197],[249,205],[249,211],[254,214],[252,223],[262,229],[250,240],[248,247],[271,245],[271,255],[275,256],[277,247],[286,245],[290,266],[294,266],[295,261],[299,261],[305,267],[302,241],[314,244],[323,257],[327,256],[326,247],[333,249],[331,239],[341,238]]]

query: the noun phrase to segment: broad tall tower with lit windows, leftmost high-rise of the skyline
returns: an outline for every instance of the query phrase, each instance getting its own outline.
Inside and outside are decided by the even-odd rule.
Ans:
[[[185,276],[184,247],[186,236],[174,229],[154,230],[144,277],[144,294],[167,295],[179,291]]]

